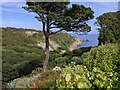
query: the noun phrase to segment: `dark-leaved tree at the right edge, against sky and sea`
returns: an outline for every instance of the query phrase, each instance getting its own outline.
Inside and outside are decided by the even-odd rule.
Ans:
[[[99,31],[99,45],[101,43],[116,43],[120,40],[120,11],[104,13],[97,17],[95,24],[100,26]]]

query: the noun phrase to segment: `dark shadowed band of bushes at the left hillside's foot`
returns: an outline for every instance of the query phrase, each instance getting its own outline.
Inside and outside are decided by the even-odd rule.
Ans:
[[[2,71],[3,81],[8,82],[23,75],[28,75],[35,68],[42,67],[42,62],[39,58],[33,58],[31,61],[18,64],[14,67],[4,68],[4,71]]]

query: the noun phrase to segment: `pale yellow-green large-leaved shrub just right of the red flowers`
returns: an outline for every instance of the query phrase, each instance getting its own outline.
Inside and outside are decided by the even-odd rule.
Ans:
[[[60,77],[57,80],[59,88],[90,88],[90,83],[87,74],[89,71],[82,65],[74,67],[66,67],[61,70]]]

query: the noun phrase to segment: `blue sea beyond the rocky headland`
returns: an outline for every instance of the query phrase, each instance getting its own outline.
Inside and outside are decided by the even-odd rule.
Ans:
[[[88,39],[89,41],[83,41],[83,45],[78,46],[78,48],[80,47],[89,47],[89,46],[98,46],[98,40],[97,38],[99,37],[99,34],[88,34],[88,35],[79,35],[79,34],[74,34],[74,33],[70,33],[70,35],[75,36],[75,37],[79,37],[82,39]]]

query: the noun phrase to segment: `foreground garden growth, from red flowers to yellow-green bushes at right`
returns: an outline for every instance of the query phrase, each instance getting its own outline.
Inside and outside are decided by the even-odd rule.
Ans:
[[[64,64],[61,60],[63,61],[66,57],[61,57],[62,59],[58,62],[61,65]],[[120,83],[120,52],[118,44],[92,47],[90,51],[82,54],[82,56],[73,58],[76,57],[77,62],[74,60],[71,63],[64,64],[64,67],[56,66],[45,73],[41,72],[41,70],[34,70],[32,76],[40,74],[39,77],[34,78],[27,85],[23,85],[22,88],[118,88]],[[72,59],[68,60],[71,61]],[[18,82],[27,82],[27,80],[22,81],[22,79],[24,78],[14,80],[8,86],[19,88],[20,84]]]

